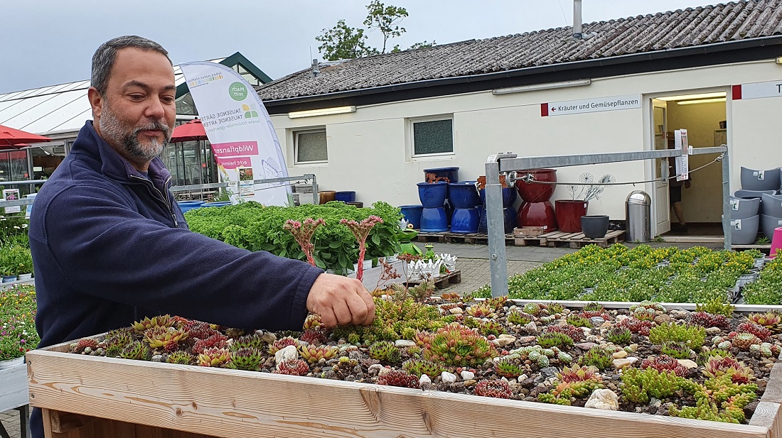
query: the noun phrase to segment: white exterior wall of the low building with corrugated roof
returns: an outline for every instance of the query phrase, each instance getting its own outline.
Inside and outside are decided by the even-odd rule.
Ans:
[[[335,116],[289,119],[272,116],[291,175],[315,173],[321,190],[355,190],[364,203],[383,200],[393,205],[418,204],[415,183],[423,180],[423,169],[459,166],[461,180],[482,175],[486,157],[498,151],[519,155],[568,155],[597,151],[651,149],[651,103],[649,98],[681,91],[730,91],[730,85],[782,78],[782,66],[773,62],[751,62],[676,72],[644,73],[593,80],[587,87],[493,95],[490,91],[415,101],[358,107],[356,112]],[[540,103],[643,94],[641,109],[595,112],[569,116],[540,116]],[[730,92],[728,93],[730,97]],[[731,157],[732,190],[739,187],[739,166],[766,166],[769,160],[782,164],[782,147],[773,129],[782,98],[737,101],[727,104],[729,140],[738,148]],[[698,106],[698,105],[694,105]],[[409,158],[407,118],[453,114],[454,155],[437,158]],[[326,126],[328,164],[296,165],[293,162],[292,131]],[[670,126],[669,126],[669,129]],[[595,178],[612,173],[618,181],[651,177],[651,163],[626,162],[558,169],[558,179],[578,180],[589,171]],[[591,214],[608,214],[624,219],[624,201],[630,191],[651,194],[651,184],[614,186],[604,191],[601,201],[590,203]],[[554,198],[569,198],[564,186]]]

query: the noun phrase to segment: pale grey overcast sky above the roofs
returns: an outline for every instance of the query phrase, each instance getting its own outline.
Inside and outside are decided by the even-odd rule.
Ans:
[[[344,19],[360,27],[370,0],[8,0],[0,25],[0,93],[90,77],[103,41],[138,34],[179,62],[241,52],[273,79],[310,65],[314,37]],[[388,0],[410,14],[393,44],[445,44],[572,25],[572,0]],[[583,0],[583,21],[612,20],[717,3],[709,0]],[[178,6],[174,6],[178,5]],[[382,45],[371,33],[369,43]],[[310,57],[310,51],[312,56]]]

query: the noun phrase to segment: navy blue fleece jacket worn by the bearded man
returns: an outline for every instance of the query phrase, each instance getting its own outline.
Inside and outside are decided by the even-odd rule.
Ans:
[[[301,329],[323,271],[188,230],[170,179],[160,158],[146,179],[84,125],[30,217],[39,347],[165,313]],[[32,429],[43,436],[39,415]]]

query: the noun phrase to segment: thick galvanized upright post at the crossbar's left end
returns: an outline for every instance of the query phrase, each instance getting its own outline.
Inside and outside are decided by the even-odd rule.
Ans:
[[[508,262],[505,255],[505,220],[502,214],[500,164],[494,155],[486,162],[486,223],[489,228],[491,295],[508,295]]]

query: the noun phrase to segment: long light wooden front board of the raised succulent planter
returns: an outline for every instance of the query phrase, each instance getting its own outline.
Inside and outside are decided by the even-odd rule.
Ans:
[[[761,438],[766,426],[231,369],[30,352],[34,405],[216,436]],[[490,420],[487,419],[490,415]],[[475,427],[480,425],[480,427]],[[575,426],[578,425],[578,426]]]

